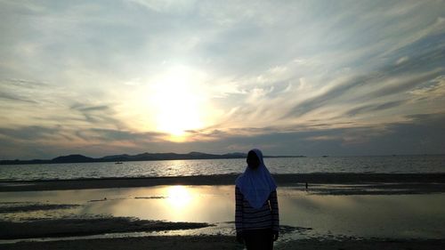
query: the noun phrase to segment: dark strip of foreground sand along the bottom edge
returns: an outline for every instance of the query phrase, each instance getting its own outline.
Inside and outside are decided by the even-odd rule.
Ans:
[[[445,239],[430,240],[390,240],[390,239],[300,239],[275,244],[275,250],[340,250],[340,249],[410,249],[410,250],[441,250],[444,249]],[[144,238],[107,238],[107,239],[81,239],[63,240],[52,242],[20,242],[13,245],[0,245],[0,249],[69,249],[69,250],[119,250],[119,249],[243,249],[243,246],[235,241],[234,237],[226,236],[196,236],[196,237],[144,237]]]

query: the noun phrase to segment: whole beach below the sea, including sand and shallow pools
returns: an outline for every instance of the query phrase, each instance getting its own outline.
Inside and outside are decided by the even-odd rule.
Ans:
[[[236,176],[2,181],[0,249],[243,249],[232,222]],[[282,218],[275,249],[445,246],[445,174],[274,178]]]

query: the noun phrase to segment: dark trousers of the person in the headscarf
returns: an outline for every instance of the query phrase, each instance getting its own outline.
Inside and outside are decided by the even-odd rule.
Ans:
[[[245,230],[243,232],[247,250],[273,249],[272,230]]]

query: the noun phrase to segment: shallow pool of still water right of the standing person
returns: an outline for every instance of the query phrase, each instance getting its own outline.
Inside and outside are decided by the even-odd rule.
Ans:
[[[442,238],[443,195],[320,196],[281,199],[284,222],[327,235]]]

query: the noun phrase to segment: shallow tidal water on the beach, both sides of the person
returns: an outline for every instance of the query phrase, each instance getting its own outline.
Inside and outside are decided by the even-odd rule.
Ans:
[[[443,238],[445,235],[443,194],[329,196],[297,188],[279,188],[278,192],[281,224],[312,228],[294,232],[288,238]],[[218,225],[198,230],[199,233],[221,230],[227,234],[234,228],[233,186],[4,192],[0,193],[0,200],[0,206],[15,206],[11,202],[81,205],[0,214],[3,220],[112,215]],[[196,230],[184,233],[193,234]]]

